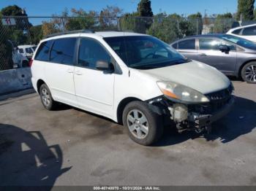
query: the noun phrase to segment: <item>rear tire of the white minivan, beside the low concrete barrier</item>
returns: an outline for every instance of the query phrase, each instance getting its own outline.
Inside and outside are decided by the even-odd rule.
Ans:
[[[44,95],[43,95],[45,92],[48,94],[48,101],[45,101],[45,98],[44,98]],[[53,100],[53,97],[52,97],[52,95],[50,93],[50,90],[49,90],[47,85],[42,84],[40,86],[39,95],[40,95],[40,98],[41,98],[42,105],[45,107],[45,109],[48,109],[48,110],[56,109],[57,102]]]

